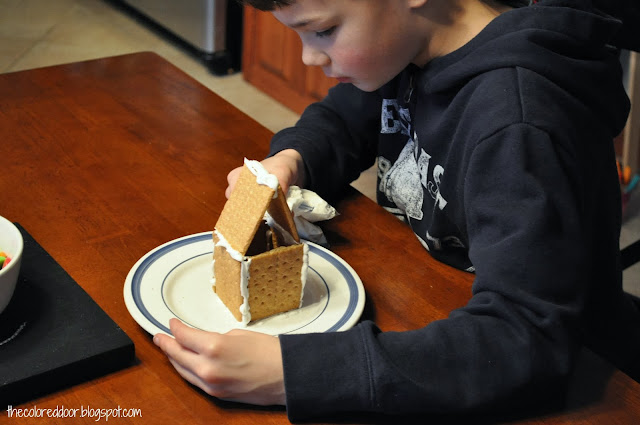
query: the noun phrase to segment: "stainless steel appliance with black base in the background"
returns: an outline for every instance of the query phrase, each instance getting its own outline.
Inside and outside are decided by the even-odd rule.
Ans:
[[[242,8],[234,0],[120,0],[177,36],[215,74],[240,68]]]

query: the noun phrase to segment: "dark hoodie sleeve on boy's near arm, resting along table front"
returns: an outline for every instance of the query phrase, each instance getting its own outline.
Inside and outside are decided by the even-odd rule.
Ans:
[[[469,303],[413,331],[364,322],[281,336],[290,419],[504,411],[561,399],[589,261],[570,155],[527,124],[477,145],[463,195],[476,267]]]

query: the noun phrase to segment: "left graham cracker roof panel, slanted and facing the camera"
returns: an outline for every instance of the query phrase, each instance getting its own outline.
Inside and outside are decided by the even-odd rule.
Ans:
[[[257,182],[246,165],[242,167],[236,186],[216,223],[216,230],[242,255],[249,249],[273,194],[273,189]]]

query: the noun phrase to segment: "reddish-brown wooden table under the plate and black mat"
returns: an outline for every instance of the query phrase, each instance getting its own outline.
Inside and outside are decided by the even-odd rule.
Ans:
[[[0,215],[35,237],[133,339],[137,356],[124,370],[14,408],[142,412],[142,418],[109,423],[288,423],[282,408],[220,402],[186,383],[129,315],[122,296],[127,273],[145,253],[213,228],[227,172],[245,156],[264,157],[270,137],[151,53],[0,75]],[[332,250],[364,282],[365,318],[383,330],[407,330],[466,303],[472,275],[431,259],[409,228],[374,202],[353,191],[336,208],[341,215],[324,228]],[[390,258],[379,273],[380,261]],[[416,263],[422,267],[408,266]],[[411,284],[416,281],[432,284]],[[640,423],[640,385],[588,352],[568,399],[561,412],[507,422]],[[11,421],[6,412],[0,415],[5,421]]]

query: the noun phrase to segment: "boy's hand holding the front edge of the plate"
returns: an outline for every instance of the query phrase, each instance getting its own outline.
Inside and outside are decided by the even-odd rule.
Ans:
[[[170,321],[171,338],[156,334],[178,373],[214,397],[257,405],[284,405],[284,372],[278,338],[232,330],[226,334]]]

